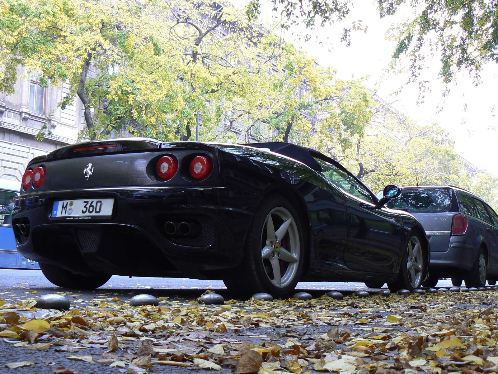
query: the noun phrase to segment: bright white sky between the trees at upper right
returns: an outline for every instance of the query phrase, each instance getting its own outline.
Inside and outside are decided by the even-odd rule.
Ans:
[[[261,21],[270,21],[269,16],[278,15],[277,12],[270,11],[270,0],[260,1]],[[232,2],[245,5],[249,0]],[[428,69],[423,74],[431,82],[431,92],[426,94],[423,104],[417,105],[417,84],[406,85],[401,92],[394,94],[407,81],[407,73],[385,75],[395,47],[395,42],[385,39],[385,32],[393,22],[401,20],[402,17],[409,17],[411,9],[406,5],[395,16],[380,19],[372,0],[363,0],[361,3],[357,1],[355,4],[349,20],[318,28],[313,34],[313,41],[305,43],[296,40],[295,34],[302,33],[302,29],[297,28],[287,31],[285,37],[299,45],[321,65],[329,64],[337,68],[341,78],[368,76],[366,85],[377,90],[387,102],[392,102],[395,108],[421,123],[438,123],[451,133],[455,140],[455,149],[461,156],[479,169],[487,169],[498,175],[498,66],[486,66],[481,74],[482,83],[477,87],[472,84],[468,73],[462,72],[457,85],[451,87],[450,95],[443,102],[444,85],[437,79],[440,61],[437,56],[428,55]],[[360,19],[363,26],[368,25],[368,31],[353,31],[351,46],[347,47],[345,43],[340,42],[342,28]],[[275,18],[272,20],[275,21]],[[322,41],[323,45],[318,41]],[[331,52],[328,52],[328,49]],[[494,106],[495,112],[492,109]]]

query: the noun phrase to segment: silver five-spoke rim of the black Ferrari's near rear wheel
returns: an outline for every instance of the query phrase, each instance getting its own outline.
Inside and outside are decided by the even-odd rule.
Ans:
[[[300,261],[299,232],[292,214],[284,207],[273,208],[261,233],[261,260],[266,276],[278,287],[288,286],[295,278]]]

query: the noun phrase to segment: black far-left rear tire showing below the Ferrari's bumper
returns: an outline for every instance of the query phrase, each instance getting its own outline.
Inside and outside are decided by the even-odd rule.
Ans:
[[[93,277],[73,274],[59,266],[39,263],[43,275],[53,284],[62,288],[77,290],[94,290],[104,285],[111,275],[102,274]]]

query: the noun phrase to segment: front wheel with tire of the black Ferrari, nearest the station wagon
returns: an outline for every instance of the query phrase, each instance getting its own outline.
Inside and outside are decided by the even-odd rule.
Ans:
[[[389,291],[396,292],[401,289],[413,291],[415,288],[420,287],[425,266],[424,255],[422,242],[417,234],[412,234],[408,238],[401,259],[398,278],[392,283],[387,283]]]

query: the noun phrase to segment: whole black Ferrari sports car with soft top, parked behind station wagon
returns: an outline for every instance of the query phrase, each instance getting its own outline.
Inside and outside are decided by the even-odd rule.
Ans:
[[[288,143],[130,138],[34,158],[15,199],[17,248],[57,286],[112,274],[222,279],[241,295],[292,293],[299,280],[414,289],[429,244],[336,161]]]

